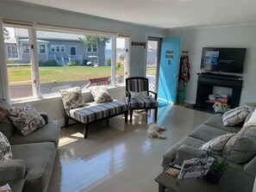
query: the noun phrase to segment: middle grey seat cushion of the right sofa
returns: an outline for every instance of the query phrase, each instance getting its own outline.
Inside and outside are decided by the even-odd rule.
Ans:
[[[207,125],[201,125],[197,127],[195,130],[193,130],[189,136],[192,138],[200,139],[205,142],[208,142],[210,139],[214,139],[217,136],[220,136],[222,134],[227,134],[228,131],[224,131],[219,128],[210,127]]]

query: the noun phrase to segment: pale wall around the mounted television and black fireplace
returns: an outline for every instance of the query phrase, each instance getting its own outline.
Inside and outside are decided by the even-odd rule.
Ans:
[[[182,50],[190,52],[191,77],[186,87],[187,102],[196,102],[196,73],[200,71],[203,46],[247,48],[240,105],[245,102],[256,102],[256,25],[170,29],[167,36],[182,37]]]

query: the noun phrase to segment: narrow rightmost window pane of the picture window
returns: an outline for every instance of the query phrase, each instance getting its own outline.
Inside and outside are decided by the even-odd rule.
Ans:
[[[124,84],[125,39],[116,38],[116,84]]]

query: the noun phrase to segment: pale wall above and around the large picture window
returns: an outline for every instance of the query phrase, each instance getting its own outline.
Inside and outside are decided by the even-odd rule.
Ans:
[[[84,9],[90,9],[86,7]],[[60,9],[48,9],[39,6],[32,6],[26,3],[15,3],[2,1],[0,2],[0,18],[12,19],[24,22],[41,22],[48,25],[57,25],[66,28],[84,28],[89,30],[98,30],[104,32],[130,34],[131,41],[146,41],[147,34],[164,34],[164,29],[149,28],[145,26],[130,24],[126,22],[117,22],[113,20],[103,19],[91,15],[82,15]],[[3,49],[3,45],[0,45]],[[143,46],[131,46],[130,50],[130,76],[143,76],[145,64],[146,49]],[[0,64],[5,65],[5,64]],[[0,85],[0,93],[2,93]],[[123,99],[125,89],[117,88],[109,90],[111,96],[116,99]],[[1,96],[1,94],[0,94]],[[90,96],[89,93],[84,97]],[[47,112],[50,120],[60,120],[63,125],[63,105],[60,97],[43,99],[41,101],[29,102],[41,112]]]

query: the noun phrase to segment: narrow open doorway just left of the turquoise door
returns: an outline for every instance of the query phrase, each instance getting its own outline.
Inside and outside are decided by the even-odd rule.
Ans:
[[[149,90],[154,92],[158,90],[160,44],[161,38],[148,37],[146,77],[148,78]]]

